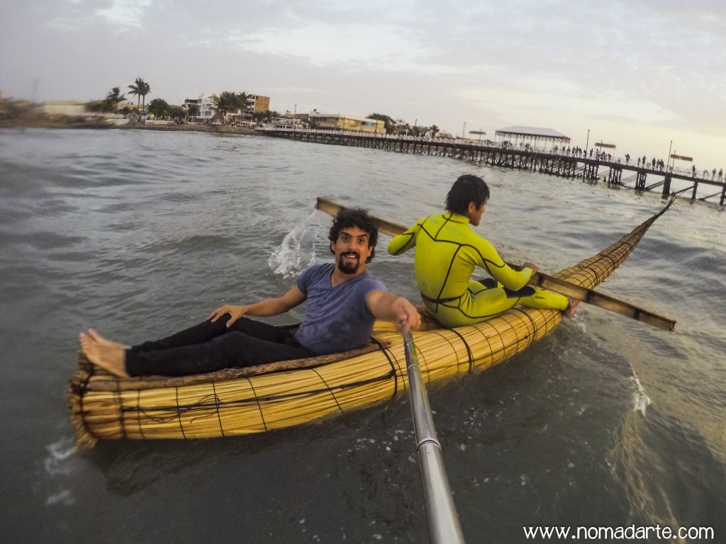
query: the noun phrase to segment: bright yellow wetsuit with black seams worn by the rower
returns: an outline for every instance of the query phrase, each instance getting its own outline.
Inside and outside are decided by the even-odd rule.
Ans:
[[[531,268],[515,271],[494,246],[471,230],[465,215],[446,212],[422,219],[388,244],[391,255],[416,247],[416,283],[426,308],[444,326],[479,323],[522,304],[565,310],[567,297],[527,286]],[[474,281],[475,266],[496,281]]]

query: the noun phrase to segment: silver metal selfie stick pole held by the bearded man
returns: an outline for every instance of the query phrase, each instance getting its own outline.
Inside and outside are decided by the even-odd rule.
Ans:
[[[433,544],[463,544],[464,537],[449,481],[446,479],[444,460],[441,458],[441,444],[436,438],[436,429],[433,427],[433,416],[431,416],[431,408],[428,405],[421,367],[418,364],[416,346],[407,325],[404,326],[403,335],[411,393],[411,411],[416,433],[416,449],[421,463],[431,542]]]

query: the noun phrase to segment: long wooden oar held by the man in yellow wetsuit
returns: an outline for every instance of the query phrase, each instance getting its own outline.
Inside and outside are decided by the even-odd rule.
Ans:
[[[315,207],[330,215],[337,215],[340,210],[345,209],[345,206],[341,206],[332,200],[321,197],[318,197]],[[406,227],[397,223],[391,223],[391,221],[386,221],[385,219],[377,217],[374,217],[374,219],[375,221],[378,221],[378,231],[383,234],[398,236],[406,231]],[[512,265],[510,263],[507,264],[512,268],[520,268],[517,265]],[[567,297],[572,297],[576,300],[582,300],[582,302],[597,306],[598,308],[619,313],[621,316],[626,316],[635,319],[636,321],[648,323],[648,325],[658,327],[658,329],[663,329],[664,331],[672,331],[676,326],[676,322],[672,319],[658,316],[648,310],[638,308],[629,302],[623,302],[622,300],[618,300],[614,297],[608,296],[607,294],[595,292],[592,289],[587,289],[587,287],[582,287],[581,285],[571,284],[568,281],[555,278],[555,276],[550,276],[542,272],[532,274],[529,283],[537,287],[542,287],[542,289],[549,289],[550,291],[564,294]]]

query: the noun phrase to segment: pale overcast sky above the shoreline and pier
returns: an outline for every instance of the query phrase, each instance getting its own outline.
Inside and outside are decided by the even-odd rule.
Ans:
[[[5,97],[246,91],[285,112],[384,113],[460,135],[726,168],[725,0],[4,0]],[[296,105],[295,105],[296,104]],[[678,165],[678,164],[677,164]],[[690,166],[685,163],[682,166]]]

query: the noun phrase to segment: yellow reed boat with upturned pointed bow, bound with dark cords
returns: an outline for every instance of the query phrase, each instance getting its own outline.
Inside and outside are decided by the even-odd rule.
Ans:
[[[670,203],[669,203],[670,205]],[[553,276],[592,289],[624,262],[668,206],[593,257]],[[445,329],[423,315],[413,332],[425,382],[483,371],[552,333],[558,310],[515,307],[474,326]],[[78,353],[68,401],[78,448],[98,440],[209,438],[307,424],[407,395],[404,341],[377,322],[366,347],[210,374],[118,378]]]

